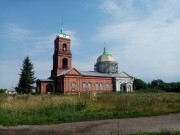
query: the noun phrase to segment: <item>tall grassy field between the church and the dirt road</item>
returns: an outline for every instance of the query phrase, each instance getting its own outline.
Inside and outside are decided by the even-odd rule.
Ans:
[[[132,118],[180,112],[178,93],[108,93],[89,95],[0,94],[0,125],[36,125]]]

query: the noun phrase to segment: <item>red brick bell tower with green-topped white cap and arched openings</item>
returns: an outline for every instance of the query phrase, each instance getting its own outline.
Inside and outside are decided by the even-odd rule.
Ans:
[[[62,71],[72,68],[70,43],[70,37],[61,29],[60,34],[54,40],[53,69],[51,70],[52,79]]]

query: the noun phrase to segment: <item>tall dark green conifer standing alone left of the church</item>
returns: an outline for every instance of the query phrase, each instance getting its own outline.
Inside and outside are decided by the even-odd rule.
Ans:
[[[34,67],[31,63],[29,57],[27,56],[22,64],[21,73],[19,74],[19,83],[15,88],[18,93],[30,93],[34,88],[33,84],[35,83],[36,78],[34,77]]]

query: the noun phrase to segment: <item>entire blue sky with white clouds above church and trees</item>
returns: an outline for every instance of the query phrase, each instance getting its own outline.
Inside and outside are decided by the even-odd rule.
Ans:
[[[119,72],[180,81],[180,0],[0,0],[0,88],[17,86],[26,56],[48,78],[62,27],[78,70],[92,71],[106,47]]]

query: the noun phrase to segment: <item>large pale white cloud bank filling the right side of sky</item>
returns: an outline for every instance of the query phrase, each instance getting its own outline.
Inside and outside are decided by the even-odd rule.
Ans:
[[[119,61],[121,71],[126,70],[146,81],[156,76],[165,81],[180,80],[180,1],[141,1],[153,11],[147,9],[147,16],[140,19],[136,17],[139,15],[136,1],[128,2],[123,3],[123,8],[117,1],[102,4],[104,12],[121,20],[102,26],[96,37],[112,43],[110,51]]]

